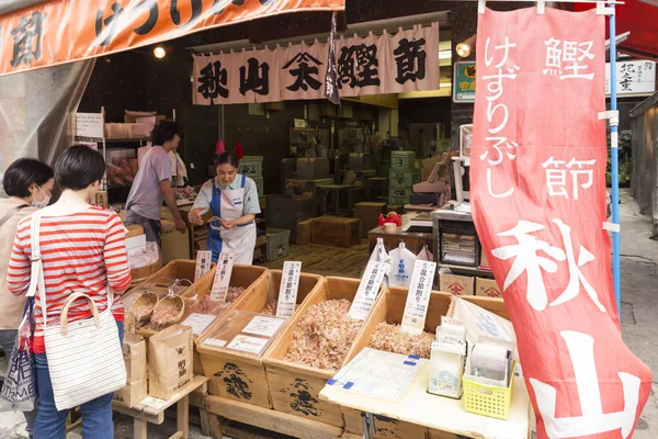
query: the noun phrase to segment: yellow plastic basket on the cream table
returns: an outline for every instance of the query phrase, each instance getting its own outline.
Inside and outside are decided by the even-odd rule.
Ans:
[[[512,364],[512,378],[509,387],[498,387],[468,381],[463,376],[464,409],[476,415],[490,418],[507,419],[512,405],[512,389],[514,386],[514,371],[517,362]]]

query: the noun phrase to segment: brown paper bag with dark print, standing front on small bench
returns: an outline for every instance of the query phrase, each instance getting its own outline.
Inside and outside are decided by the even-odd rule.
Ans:
[[[149,395],[169,399],[192,381],[192,328],[173,325],[148,340]]]

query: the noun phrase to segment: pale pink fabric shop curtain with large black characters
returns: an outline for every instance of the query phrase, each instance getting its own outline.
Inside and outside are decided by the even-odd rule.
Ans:
[[[325,99],[330,44],[194,56],[194,104]],[[341,98],[439,88],[439,23],[336,41]],[[332,75],[329,75],[332,78]],[[333,83],[336,82],[336,83]]]

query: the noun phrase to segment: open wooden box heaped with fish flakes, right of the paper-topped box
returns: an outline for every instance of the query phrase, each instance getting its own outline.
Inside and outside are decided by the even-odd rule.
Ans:
[[[306,299],[265,353],[263,362],[275,410],[344,426],[341,407],[320,401],[318,395],[344,364],[363,327],[363,322],[348,317],[360,282],[325,278],[322,286]]]

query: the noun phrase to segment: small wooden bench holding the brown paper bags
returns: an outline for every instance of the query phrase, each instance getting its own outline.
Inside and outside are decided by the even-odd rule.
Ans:
[[[112,409],[133,417],[134,439],[147,439],[148,423],[162,424],[164,421],[164,410],[175,404],[178,431],[169,439],[188,439],[190,434],[190,394],[195,391],[207,393],[207,376],[196,375],[190,384],[181,389],[173,397],[167,401],[157,399],[157,406],[137,404],[131,408],[123,403],[113,401]]]

